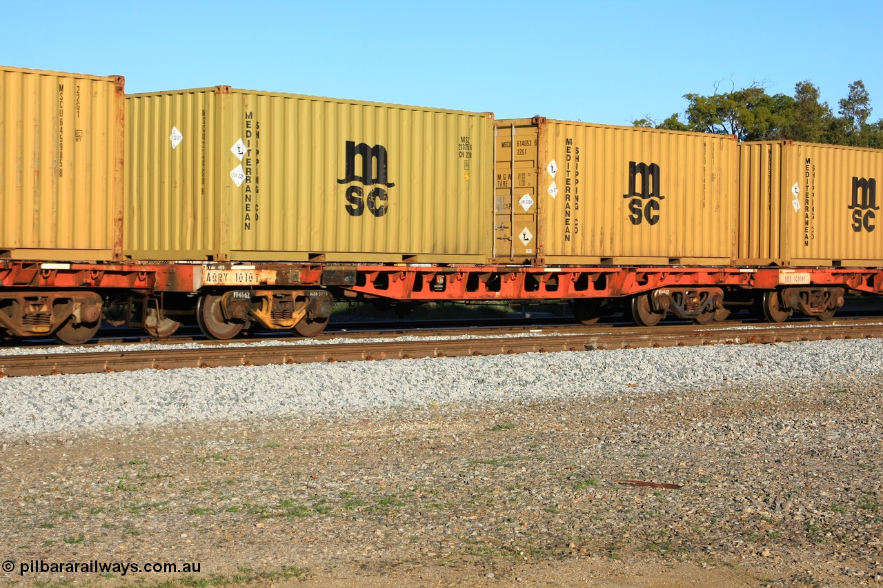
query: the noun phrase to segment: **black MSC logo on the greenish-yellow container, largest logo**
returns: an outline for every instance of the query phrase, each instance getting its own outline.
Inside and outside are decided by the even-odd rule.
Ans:
[[[361,157],[361,168],[356,166],[356,157]],[[360,172],[360,173],[359,173]],[[387,212],[387,193],[384,187],[391,188],[395,184],[387,178],[387,152],[386,147],[375,145],[368,147],[365,143],[356,145],[356,141],[346,142],[346,171],[343,179],[337,180],[338,184],[350,184],[359,182],[364,186],[374,186],[368,195],[362,186],[351,185],[346,189],[346,204],[343,207],[351,216],[361,216],[368,212],[380,218]]]

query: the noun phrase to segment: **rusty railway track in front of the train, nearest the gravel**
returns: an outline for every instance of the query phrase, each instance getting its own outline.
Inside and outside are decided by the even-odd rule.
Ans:
[[[575,329],[579,332],[574,333]],[[556,333],[556,330],[559,332]],[[671,325],[611,329],[609,326],[577,328],[571,325],[567,328],[544,328],[543,333],[528,334],[523,331],[521,335],[514,334],[511,328],[506,331],[502,336],[494,335],[492,330],[483,330],[480,332],[483,336],[479,338],[423,338],[407,342],[392,339],[370,343],[327,343],[328,340],[324,340],[262,346],[242,345],[241,342],[238,345],[215,342],[202,345],[199,349],[0,355],[0,377],[874,338],[883,336],[883,324],[878,319],[861,319],[831,323],[727,324],[712,327]],[[463,334],[462,330],[446,333],[449,336]],[[479,333],[470,331],[469,335]]]

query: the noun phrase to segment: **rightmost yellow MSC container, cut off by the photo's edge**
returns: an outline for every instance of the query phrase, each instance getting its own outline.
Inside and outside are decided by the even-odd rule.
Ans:
[[[739,145],[739,260],[879,266],[883,150],[763,141]]]

